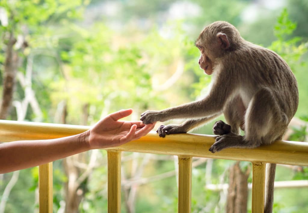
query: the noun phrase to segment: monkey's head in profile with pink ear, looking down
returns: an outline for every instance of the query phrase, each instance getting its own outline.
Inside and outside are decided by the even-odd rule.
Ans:
[[[200,33],[195,45],[200,50],[199,65],[206,74],[213,73],[216,59],[237,49],[243,38],[238,30],[228,22],[214,22]]]

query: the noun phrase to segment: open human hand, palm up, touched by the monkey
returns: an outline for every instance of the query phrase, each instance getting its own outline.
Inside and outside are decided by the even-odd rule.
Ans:
[[[141,121],[118,121],[132,114],[132,109],[120,110],[107,115],[88,131],[90,149],[120,146],[147,135],[155,123],[145,125]]]

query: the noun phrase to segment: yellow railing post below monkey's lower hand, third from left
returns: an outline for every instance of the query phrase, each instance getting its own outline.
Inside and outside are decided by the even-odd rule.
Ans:
[[[179,158],[179,198],[178,212],[191,212],[192,191],[192,157],[178,156]]]

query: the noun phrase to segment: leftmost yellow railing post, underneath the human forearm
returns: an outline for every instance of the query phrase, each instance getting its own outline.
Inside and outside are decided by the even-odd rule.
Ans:
[[[39,212],[52,213],[52,162],[39,166]]]

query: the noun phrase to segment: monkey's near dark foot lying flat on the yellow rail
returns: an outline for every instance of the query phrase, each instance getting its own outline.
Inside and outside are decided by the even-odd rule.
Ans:
[[[209,151],[215,153],[225,148],[247,147],[243,142],[244,138],[241,135],[221,135],[216,138],[216,142],[209,148]]]

